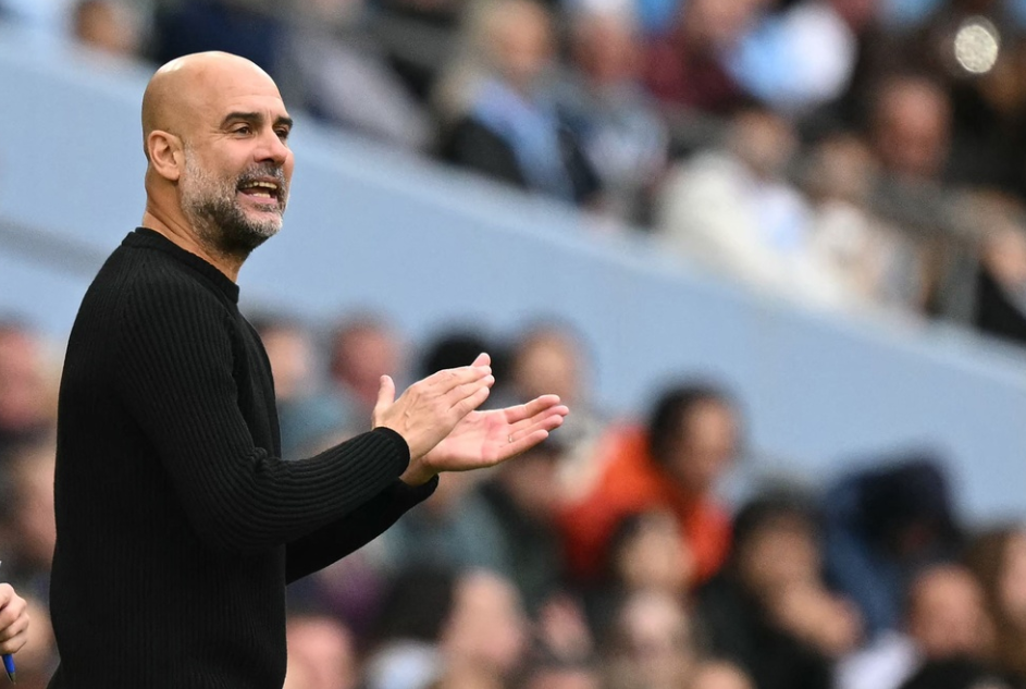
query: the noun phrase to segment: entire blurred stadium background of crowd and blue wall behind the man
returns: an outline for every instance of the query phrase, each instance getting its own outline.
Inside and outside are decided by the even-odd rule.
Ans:
[[[20,685],[63,344],[211,49],[297,120],[239,281],[286,459],[482,350],[572,409],[293,585],[288,689],[1026,686],[1023,0],[0,0]]]

